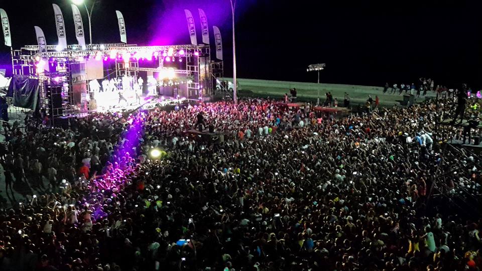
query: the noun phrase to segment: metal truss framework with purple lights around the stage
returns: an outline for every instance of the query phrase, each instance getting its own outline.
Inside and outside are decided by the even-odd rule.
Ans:
[[[85,107],[75,103],[72,88],[74,83],[83,80],[90,92],[87,78],[73,76],[73,69],[82,63],[85,65],[85,60],[91,58],[104,63],[115,62],[115,77],[138,76],[139,72],[162,73],[166,70],[182,74],[187,78],[182,84],[187,88],[188,99],[209,100],[216,87],[216,78],[223,75],[222,62],[211,62],[209,45],[137,46],[123,43],[93,44],[85,48],[69,45],[62,51],[58,51],[57,46],[48,45],[44,54],[40,53],[39,46],[24,46],[12,50],[13,74],[39,80],[40,108],[48,110],[53,122],[58,117],[92,112],[89,105]],[[166,67],[168,58],[184,61],[185,68]],[[140,65],[140,61],[147,60],[152,63],[150,67]],[[105,70],[103,72],[105,76]]]

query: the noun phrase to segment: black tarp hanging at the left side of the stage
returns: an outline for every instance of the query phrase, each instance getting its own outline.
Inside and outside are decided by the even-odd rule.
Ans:
[[[7,96],[13,97],[14,106],[38,109],[40,85],[38,79],[31,79],[25,75],[14,75],[10,81]]]

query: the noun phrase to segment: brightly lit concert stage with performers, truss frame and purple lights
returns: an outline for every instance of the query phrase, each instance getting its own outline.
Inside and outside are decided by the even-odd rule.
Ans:
[[[54,126],[63,116],[137,108],[146,95],[166,99],[149,101],[145,109],[209,100],[215,78],[210,55],[209,45],[24,46],[12,50],[13,78],[39,86],[31,93]],[[18,84],[14,91],[23,87]]]

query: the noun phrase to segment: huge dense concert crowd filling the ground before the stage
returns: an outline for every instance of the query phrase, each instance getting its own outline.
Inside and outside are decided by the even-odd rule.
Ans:
[[[27,122],[2,158],[0,270],[477,270],[480,161],[433,134],[450,104]],[[199,118],[223,140],[186,133]]]

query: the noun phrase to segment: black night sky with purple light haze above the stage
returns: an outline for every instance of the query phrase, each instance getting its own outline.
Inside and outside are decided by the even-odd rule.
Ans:
[[[87,0],[88,1],[88,0]],[[34,26],[56,44],[52,3],[66,21],[67,41],[76,43],[68,0],[1,0],[10,18],[14,48],[35,44]],[[318,4],[314,4],[318,3]],[[303,1],[238,0],[238,77],[316,81],[309,64],[326,63],[322,82],[384,85],[430,77],[435,84],[467,82],[482,87],[482,3],[480,1]],[[223,36],[225,75],[232,74],[229,0],[100,0],[93,14],[94,43],[119,41],[115,10],[124,14],[129,43],[188,44],[184,9],[200,26],[205,10]],[[87,17],[84,18],[87,35]],[[2,66],[10,49],[0,38]]]

